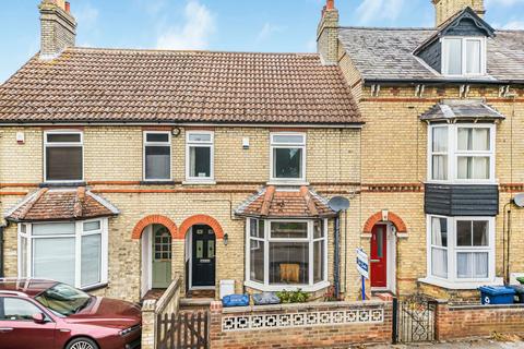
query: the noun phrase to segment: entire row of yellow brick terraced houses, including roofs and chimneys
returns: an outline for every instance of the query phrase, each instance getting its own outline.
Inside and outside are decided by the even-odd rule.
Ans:
[[[327,0],[299,55],[79,48],[44,0],[0,88],[3,274],[354,300],[362,246],[373,292],[460,300],[524,273],[524,32],[432,3],[434,27],[366,28]]]

